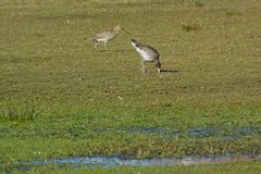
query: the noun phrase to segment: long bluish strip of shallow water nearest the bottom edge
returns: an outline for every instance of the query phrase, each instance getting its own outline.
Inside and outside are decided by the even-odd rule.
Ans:
[[[186,158],[152,158],[152,159],[122,159],[119,157],[74,157],[65,159],[48,159],[15,163],[16,169],[28,170],[28,166],[70,166],[70,167],[116,167],[116,166],[151,166],[151,165],[197,165],[216,164],[231,161],[251,161],[261,159],[261,156],[232,157],[186,157]]]

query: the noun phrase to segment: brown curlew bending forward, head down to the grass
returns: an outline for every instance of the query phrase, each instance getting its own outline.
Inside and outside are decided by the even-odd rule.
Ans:
[[[140,61],[140,65],[144,73],[147,72],[145,67],[145,62],[152,62],[153,65],[157,67],[158,73],[161,73],[160,53],[154,48],[144,45],[135,39],[132,39],[132,46],[142,58]]]

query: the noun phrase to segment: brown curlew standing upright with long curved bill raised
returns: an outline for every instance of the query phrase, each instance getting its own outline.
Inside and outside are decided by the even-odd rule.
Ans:
[[[100,32],[100,33],[96,34],[95,36],[89,38],[89,40],[95,41],[95,49],[97,49],[97,44],[98,42],[104,42],[104,48],[105,48],[105,50],[108,50],[107,42],[115,39],[120,35],[121,30],[124,30],[125,33],[130,35],[126,29],[124,29],[120,25],[116,25],[115,27],[113,27],[111,29],[105,29],[103,32]]]

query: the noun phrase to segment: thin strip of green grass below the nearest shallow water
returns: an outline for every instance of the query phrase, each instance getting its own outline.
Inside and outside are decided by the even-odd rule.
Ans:
[[[228,163],[228,164],[220,164],[220,165],[195,165],[195,166],[147,166],[147,167],[57,167],[57,166],[49,166],[49,167],[38,167],[32,171],[27,171],[28,174],[41,174],[41,173],[51,173],[51,174],[208,174],[208,173],[216,173],[216,174],[258,174],[260,167],[259,162],[238,162],[238,163]],[[13,173],[21,173],[21,171],[14,170]]]

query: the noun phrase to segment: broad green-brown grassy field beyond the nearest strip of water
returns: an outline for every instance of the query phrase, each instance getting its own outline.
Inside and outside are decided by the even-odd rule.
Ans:
[[[260,11],[257,0],[1,0],[1,164],[261,153]],[[124,33],[109,51],[85,39],[117,24],[166,72],[142,74]]]

